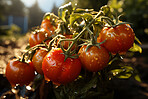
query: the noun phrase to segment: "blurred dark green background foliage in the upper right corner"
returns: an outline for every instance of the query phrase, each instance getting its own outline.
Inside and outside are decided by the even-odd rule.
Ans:
[[[109,0],[112,11],[124,14],[123,21],[132,23],[136,36],[141,41],[148,38],[148,0]]]

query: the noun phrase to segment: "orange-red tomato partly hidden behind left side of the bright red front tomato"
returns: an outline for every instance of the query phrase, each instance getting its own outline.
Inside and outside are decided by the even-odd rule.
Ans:
[[[42,62],[43,62],[43,58],[46,56],[48,52],[44,49],[39,49],[36,51],[36,53],[33,55],[32,58],[32,63],[33,66],[35,67],[35,70],[39,73],[39,74],[43,74],[42,71]]]

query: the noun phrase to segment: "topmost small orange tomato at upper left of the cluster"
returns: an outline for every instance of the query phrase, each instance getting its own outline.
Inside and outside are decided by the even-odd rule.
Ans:
[[[56,25],[52,25],[49,18],[46,18],[41,23],[41,28],[45,29],[49,36],[54,34],[55,29],[57,28]]]

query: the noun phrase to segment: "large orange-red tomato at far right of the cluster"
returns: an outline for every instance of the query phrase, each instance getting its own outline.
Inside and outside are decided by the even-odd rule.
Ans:
[[[117,25],[115,27],[104,27],[98,37],[98,42],[111,53],[124,53],[133,46],[135,34],[129,24]]]

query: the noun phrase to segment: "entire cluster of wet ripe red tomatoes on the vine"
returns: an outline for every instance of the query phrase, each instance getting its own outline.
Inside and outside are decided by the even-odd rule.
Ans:
[[[30,34],[30,49],[36,50],[29,63],[24,59],[9,61],[6,77],[12,86],[28,85],[34,79],[35,71],[44,75],[47,81],[56,84],[70,83],[77,79],[82,68],[90,72],[98,72],[105,68],[110,54],[127,52],[135,39],[129,24],[119,24],[104,26],[96,41],[79,46],[81,44],[77,42],[83,33],[75,36],[56,34],[59,24],[53,24],[52,21],[51,18],[44,18],[40,29]],[[92,39],[94,40],[91,38],[91,41]]]

